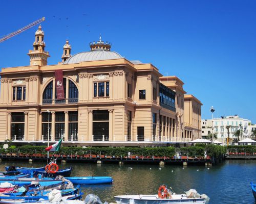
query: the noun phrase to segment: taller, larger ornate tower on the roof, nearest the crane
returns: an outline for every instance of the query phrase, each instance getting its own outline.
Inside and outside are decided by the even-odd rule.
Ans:
[[[39,25],[38,30],[35,32],[35,41],[33,43],[33,50],[29,50],[30,65],[47,65],[47,58],[50,57],[49,52],[45,51],[46,43],[44,42],[44,31],[41,30]]]

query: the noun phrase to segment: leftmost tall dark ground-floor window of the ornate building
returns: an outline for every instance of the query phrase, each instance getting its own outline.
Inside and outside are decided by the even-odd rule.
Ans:
[[[11,117],[11,140],[24,140],[24,113],[12,113]]]

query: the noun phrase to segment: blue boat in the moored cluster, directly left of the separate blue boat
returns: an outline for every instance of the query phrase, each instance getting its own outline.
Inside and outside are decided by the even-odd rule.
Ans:
[[[40,186],[49,186],[53,184],[62,183],[62,180],[53,180],[52,178],[44,178],[44,180],[36,180],[36,178],[20,178],[15,180],[9,179],[0,179],[0,183],[8,182],[12,185],[24,186],[24,185],[31,185],[31,182],[37,183]]]

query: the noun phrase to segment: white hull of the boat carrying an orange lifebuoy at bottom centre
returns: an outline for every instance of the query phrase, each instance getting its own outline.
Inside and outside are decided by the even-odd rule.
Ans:
[[[137,197],[137,198],[136,198]],[[117,204],[204,204],[204,198],[174,198],[174,199],[158,199],[158,195],[131,195],[131,197],[115,196]]]

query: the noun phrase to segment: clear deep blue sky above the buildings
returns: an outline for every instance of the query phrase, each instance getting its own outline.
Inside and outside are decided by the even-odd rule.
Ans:
[[[256,1],[4,1],[0,36],[45,16],[48,64],[89,50],[99,34],[126,59],[177,75],[202,118],[238,114],[256,123]],[[37,27],[0,44],[0,67],[29,65]]]

